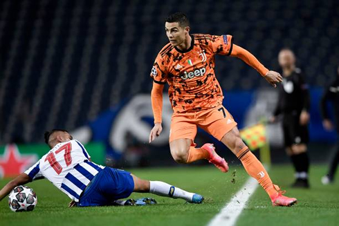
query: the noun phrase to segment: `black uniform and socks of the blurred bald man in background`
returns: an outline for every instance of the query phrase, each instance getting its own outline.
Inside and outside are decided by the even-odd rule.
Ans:
[[[291,148],[293,144],[307,144],[309,142],[309,131],[307,125],[300,124],[302,111],[309,112],[310,97],[309,88],[300,68],[295,68],[293,73],[284,77],[282,85],[279,86],[279,97],[274,111],[275,117],[282,115],[282,126],[284,131],[284,145]],[[307,153],[291,154],[291,160],[295,167],[295,187],[309,187],[308,171],[309,158]]]

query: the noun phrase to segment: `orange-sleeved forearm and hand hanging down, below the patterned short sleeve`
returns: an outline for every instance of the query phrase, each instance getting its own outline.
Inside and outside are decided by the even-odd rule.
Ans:
[[[161,115],[163,111],[163,86],[163,84],[157,84],[156,82],[153,82],[151,99],[152,111],[154,115],[154,127],[151,133],[149,133],[149,142],[154,141],[154,139],[163,131],[163,126],[161,126]]]

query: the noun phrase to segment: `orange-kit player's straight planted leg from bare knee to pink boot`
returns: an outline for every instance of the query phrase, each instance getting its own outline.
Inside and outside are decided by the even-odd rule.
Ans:
[[[266,169],[255,155],[248,149],[246,144],[241,140],[237,127],[233,128],[230,132],[223,136],[221,142],[239,158],[244,165],[247,173],[255,178],[262,188],[270,196],[273,206],[291,206],[297,202],[296,198],[288,198],[283,196],[284,191],[281,191],[268,175]]]

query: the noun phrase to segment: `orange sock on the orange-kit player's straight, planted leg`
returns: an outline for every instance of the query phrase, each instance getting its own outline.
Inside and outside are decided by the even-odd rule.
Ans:
[[[277,193],[277,190],[273,186],[273,182],[268,176],[268,173],[262,162],[260,162],[255,155],[253,155],[252,151],[248,149],[248,147],[244,147],[237,154],[237,158],[241,161],[246,169],[248,175],[255,178],[262,185],[262,188],[267,192],[268,196],[272,196]]]

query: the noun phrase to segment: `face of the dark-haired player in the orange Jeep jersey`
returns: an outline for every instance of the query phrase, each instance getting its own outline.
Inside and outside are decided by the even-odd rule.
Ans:
[[[165,31],[172,46],[178,46],[185,41],[185,36],[190,31],[190,27],[183,28],[179,26],[178,22],[166,22]]]

